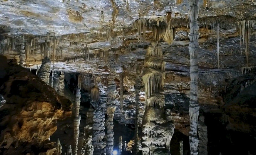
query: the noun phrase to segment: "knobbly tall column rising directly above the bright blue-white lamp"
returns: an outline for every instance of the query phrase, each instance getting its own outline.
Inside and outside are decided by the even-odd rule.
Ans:
[[[110,61],[110,73],[107,89],[107,146],[106,153],[111,155],[114,148],[114,132],[113,132],[113,118],[116,110],[116,83],[115,83],[116,69],[113,60]]]

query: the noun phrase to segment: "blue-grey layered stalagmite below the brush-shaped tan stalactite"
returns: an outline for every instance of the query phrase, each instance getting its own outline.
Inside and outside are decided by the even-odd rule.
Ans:
[[[93,115],[93,135],[92,145],[94,148],[93,155],[105,155],[106,150],[103,146],[103,138],[105,137],[105,115],[101,105],[96,103]]]

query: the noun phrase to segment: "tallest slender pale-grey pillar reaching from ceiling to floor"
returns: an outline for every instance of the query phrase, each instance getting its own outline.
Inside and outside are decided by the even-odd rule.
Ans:
[[[190,34],[189,34],[189,53],[190,53],[190,100],[189,100],[189,117],[190,117],[190,131],[189,131],[189,146],[190,154],[198,154],[198,137],[197,137],[197,119],[199,115],[199,104],[197,101],[198,92],[198,12],[199,0],[189,0],[189,14],[190,14]]]

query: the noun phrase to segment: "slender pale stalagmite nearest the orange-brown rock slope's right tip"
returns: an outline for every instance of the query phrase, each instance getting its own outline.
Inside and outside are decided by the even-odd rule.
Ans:
[[[79,115],[79,109],[80,109],[80,100],[81,98],[81,92],[78,88],[75,93],[75,104],[74,104],[74,145],[73,145],[73,154],[77,155],[78,150],[78,137],[79,137],[79,125],[81,116]]]

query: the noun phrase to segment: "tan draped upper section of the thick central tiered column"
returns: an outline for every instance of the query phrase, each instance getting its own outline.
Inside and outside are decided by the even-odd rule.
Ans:
[[[153,46],[155,46],[153,44]],[[164,105],[163,85],[165,79],[165,61],[163,60],[162,47],[148,46],[144,61],[142,79],[145,83],[145,96],[147,106]]]

